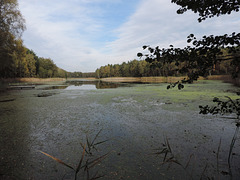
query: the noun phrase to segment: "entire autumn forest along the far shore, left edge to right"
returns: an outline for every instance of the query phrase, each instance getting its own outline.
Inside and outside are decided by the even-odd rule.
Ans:
[[[194,62],[201,55],[201,52],[194,54],[194,49],[186,49],[184,53],[180,53],[182,58],[179,61],[178,49],[169,48],[161,50],[164,53],[159,54],[160,49],[156,50],[151,47],[148,48],[151,55],[147,55],[145,60],[132,60],[123,62],[122,64],[105,65],[98,68],[95,72],[82,73],[82,72],[67,72],[54,63],[50,58],[38,57],[33,50],[28,49],[23,45],[21,35],[26,29],[25,20],[18,9],[17,0],[3,0],[0,2],[0,78],[21,78],[21,77],[37,77],[37,78],[106,78],[106,77],[149,77],[149,76],[182,76],[194,72],[195,69],[201,65],[201,62]],[[234,36],[234,35],[233,35]],[[192,38],[192,36],[190,37]],[[220,38],[220,37],[218,37]],[[228,37],[223,37],[229,39]],[[220,38],[221,39],[221,38]],[[207,40],[207,39],[206,39]],[[197,42],[197,41],[196,41]],[[205,42],[205,41],[204,41]],[[224,41],[223,41],[224,42]],[[196,44],[196,43],[195,43]],[[234,42],[233,42],[234,44]],[[239,58],[239,45],[237,53],[229,53],[227,49],[222,48],[222,54],[217,55],[218,61],[209,61],[207,64],[211,69],[208,70],[207,75],[215,74],[231,74],[234,71],[232,66],[233,59]],[[218,47],[217,47],[218,48]],[[214,48],[212,48],[214,50]],[[212,53],[211,49],[203,49],[205,57],[206,54]],[[175,53],[172,53],[172,51]],[[200,54],[199,54],[200,53]],[[167,56],[166,56],[167,54]],[[194,54],[194,56],[191,56]],[[215,53],[216,54],[216,53]],[[218,53],[219,54],[219,53]],[[158,55],[160,58],[155,57]],[[177,55],[177,56],[176,56]],[[138,53],[139,57],[144,56]],[[176,58],[176,57],[177,58]],[[186,59],[184,59],[186,56]],[[187,58],[190,57],[190,61]],[[212,57],[212,55],[211,55]],[[211,59],[209,56],[208,58]],[[215,58],[215,55],[214,55]],[[143,58],[144,59],[144,58]],[[215,58],[216,59],[216,58]],[[221,60],[219,60],[221,59]],[[201,60],[202,61],[202,60]],[[237,60],[235,60],[237,61]],[[195,68],[195,69],[194,69]],[[188,69],[188,70],[186,70]],[[206,69],[206,68],[205,68]],[[239,71],[239,70],[237,70]]]

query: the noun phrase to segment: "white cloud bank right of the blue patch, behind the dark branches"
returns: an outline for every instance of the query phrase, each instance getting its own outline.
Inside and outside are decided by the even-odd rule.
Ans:
[[[197,14],[187,12],[178,15],[177,9],[177,5],[166,0],[142,1],[129,21],[116,30],[118,39],[109,43],[109,48],[117,55],[128,54],[128,58],[133,59],[142,45],[166,48],[173,44],[184,47],[187,45],[186,38],[191,33],[201,38],[205,34],[224,34],[240,29],[238,14],[198,23]]]

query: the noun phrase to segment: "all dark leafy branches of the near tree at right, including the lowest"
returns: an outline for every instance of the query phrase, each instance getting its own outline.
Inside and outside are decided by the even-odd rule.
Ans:
[[[198,21],[202,22],[208,18],[215,16],[231,14],[238,12],[240,9],[239,0],[172,0],[181,7],[177,10],[178,14],[182,14],[188,10],[199,14]],[[178,66],[178,71],[186,73],[188,79],[183,79],[181,82],[170,84],[167,88],[178,87],[179,90],[184,88],[184,83],[192,83],[199,76],[208,76],[217,65],[228,62],[232,66],[233,78],[240,76],[240,33],[233,32],[228,35],[221,36],[203,36],[197,40],[194,34],[188,36],[188,43],[191,43],[185,48],[174,48],[170,45],[169,48],[152,48],[143,46],[143,49],[148,49],[148,54],[138,53],[139,57],[146,57],[146,61],[150,63],[171,64],[172,62]],[[226,53],[227,51],[227,53]],[[240,92],[237,92],[240,95]],[[231,141],[228,154],[228,169],[227,172],[232,179],[232,151],[237,140],[237,134],[240,128],[240,98],[220,100],[215,97],[213,102],[217,105],[213,107],[199,106],[201,114],[235,114],[236,115],[236,130]],[[219,146],[220,147],[220,146]]]

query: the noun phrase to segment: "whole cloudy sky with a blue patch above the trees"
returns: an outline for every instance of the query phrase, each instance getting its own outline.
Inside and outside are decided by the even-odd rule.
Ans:
[[[27,30],[24,44],[67,71],[137,59],[143,45],[186,46],[194,33],[239,32],[240,13],[198,23],[192,12],[178,15],[171,0],[19,0]]]

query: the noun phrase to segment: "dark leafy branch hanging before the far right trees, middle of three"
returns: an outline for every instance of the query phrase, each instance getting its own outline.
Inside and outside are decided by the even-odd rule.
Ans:
[[[185,48],[174,48],[173,45],[162,49],[158,46],[156,48],[143,46],[143,49],[148,50],[149,53],[138,53],[137,56],[140,58],[145,57],[145,60],[152,64],[164,65],[175,62],[175,65],[178,66],[177,71],[188,76],[187,79],[171,84],[168,87],[175,87],[178,84],[181,84],[178,87],[183,87],[182,83],[192,83],[199,76],[208,76],[217,63],[226,60],[223,55],[224,50],[227,50],[227,58],[234,65],[233,77],[238,76],[240,72],[240,33],[225,34],[223,36],[203,36],[200,40],[190,34],[187,42],[191,43],[191,46]]]

